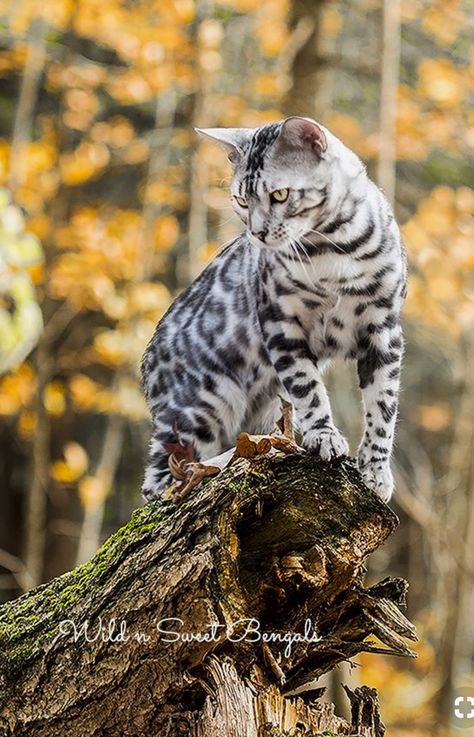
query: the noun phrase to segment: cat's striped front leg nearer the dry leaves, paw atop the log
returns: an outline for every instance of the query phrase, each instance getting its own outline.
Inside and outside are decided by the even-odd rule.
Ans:
[[[304,336],[270,337],[267,343],[270,360],[293,404],[296,421],[303,436],[303,447],[329,461],[349,452],[344,436],[334,425],[329,397],[322,372],[326,362],[318,362],[310,353]]]

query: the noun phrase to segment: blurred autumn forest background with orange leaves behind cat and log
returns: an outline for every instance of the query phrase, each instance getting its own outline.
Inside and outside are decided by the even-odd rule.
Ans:
[[[408,249],[401,526],[413,662],[369,656],[389,735],[450,734],[473,685],[473,0],[0,0],[0,597],[86,560],[141,504],[137,367],[239,229],[194,126],[315,117],[394,201]],[[353,370],[329,378],[357,447]]]

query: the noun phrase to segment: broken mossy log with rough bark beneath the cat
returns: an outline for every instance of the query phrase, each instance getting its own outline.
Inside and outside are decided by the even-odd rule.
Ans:
[[[411,654],[404,582],[363,587],[396,522],[351,461],[304,456],[240,460],[178,506],[138,510],[91,561],[0,610],[0,734],[350,734],[314,687],[289,693],[364,650]],[[285,652],[308,621],[320,639]]]

